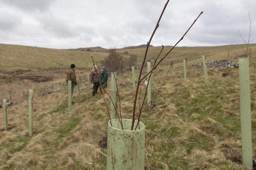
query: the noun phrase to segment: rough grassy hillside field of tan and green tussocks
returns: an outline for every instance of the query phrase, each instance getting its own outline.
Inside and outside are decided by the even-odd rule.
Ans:
[[[164,47],[161,57],[170,48]],[[252,147],[256,159],[256,44],[250,44],[250,48]],[[153,61],[160,49],[150,47],[148,57]],[[145,53],[143,46],[116,50],[123,55],[135,54],[138,61]],[[177,47],[159,65],[151,78],[152,94],[173,62],[165,84],[152,101],[156,106],[141,117],[146,127],[145,170],[248,169],[242,165],[241,156],[238,68],[208,68],[205,84],[203,68],[191,66],[202,62],[202,55],[207,61],[238,62],[244,50],[243,45]],[[19,102],[7,108],[7,131],[0,116],[1,170],[106,170],[106,106],[99,94],[88,93],[86,83],[81,84],[81,102],[76,87],[71,112],[66,88],[47,95],[36,93],[32,137],[28,135],[28,100],[14,97],[23,90],[65,82],[71,63],[78,69],[77,76],[87,76],[93,67],[90,56],[100,65],[107,49],[58,50],[0,44],[0,99],[9,101],[12,91],[13,102]],[[183,59],[188,61],[186,81]],[[117,80],[123,118],[128,119],[132,118],[134,96],[131,75],[130,70],[122,72]],[[31,76],[52,78],[35,82]],[[110,103],[109,98],[106,101]]]

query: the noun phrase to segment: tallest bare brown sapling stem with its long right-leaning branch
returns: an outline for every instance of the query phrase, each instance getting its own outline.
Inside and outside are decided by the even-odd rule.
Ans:
[[[136,110],[136,104],[137,104],[138,89],[139,89],[139,86],[140,86],[141,81],[142,81],[144,78],[146,78],[147,75],[149,75],[149,74],[151,75],[151,74],[152,74],[152,72],[154,71],[154,69],[156,69],[157,66],[163,61],[163,59],[177,46],[178,43],[181,42],[181,40],[185,37],[185,35],[188,33],[188,31],[191,29],[191,27],[192,27],[192,26],[194,25],[194,23],[197,21],[197,19],[203,14],[203,12],[201,12],[201,13],[199,14],[199,16],[194,20],[194,22],[191,24],[191,26],[188,28],[188,30],[183,34],[183,36],[180,38],[180,40],[166,53],[166,55],[164,55],[164,57],[163,57],[157,64],[155,64],[155,63],[156,63],[156,60],[155,60],[154,66],[153,66],[153,68],[151,69],[151,71],[148,72],[148,73],[146,74],[146,76],[144,76],[144,77],[141,79],[141,73],[142,73],[143,66],[144,66],[145,61],[146,61],[147,51],[148,51],[150,42],[151,42],[151,40],[152,40],[152,38],[153,38],[153,36],[154,36],[155,31],[156,31],[157,28],[159,27],[159,22],[160,22],[160,20],[161,20],[161,18],[162,18],[162,16],[163,16],[163,12],[165,11],[168,2],[169,2],[169,0],[168,0],[167,3],[164,5],[163,11],[162,11],[162,13],[161,13],[161,15],[160,15],[160,17],[159,17],[159,20],[158,20],[156,26],[155,26],[155,29],[154,29],[154,31],[153,31],[151,37],[150,37],[149,42],[147,43],[146,52],[145,52],[145,55],[144,55],[144,59],[143,59],[143,62],[142,62],[142,67],[141,67],[141,70],[140,70],[140,73],[139,73],[138,82],[137,82],[137,89],[136,89],[136,93],[135,93],[135,98],[134,98],[134,101],[133,101],[134,103],[133,103],[132,127],[131,127],[131,130],[133,130],[133,126],[134,126],[135,120],[137,119],[137,117],[140,118],[140,115],[141,115],[141,113],[142,113],[141,111],[142,111],[143,104],[141,105],[141,107],[140,107],[140,109],[139,109],[139,116],[137,116],[137,117],[135,118],[135,110]],[[161,51],[161,52],[162,52],[162,51]],[[160,52],[160,53],[161,53],[161,52]],[[159,91],[159,90],[158,90],[158,91]],[[158,92],[158,91],[157,91],[157,92]],[[145,94],[145,95],[146,95],[146,94]],[[144,98],[144,100],[143,100],[143,103],[144,103],[144,101],[145,101],[145,98]],[[147,106],[148,106],[148,105],[147,105]]]

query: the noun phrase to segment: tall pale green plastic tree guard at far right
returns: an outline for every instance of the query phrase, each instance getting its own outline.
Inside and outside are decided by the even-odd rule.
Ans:
[[[249,58],[238,59],[240,84],[240,115],[242,138],[242,161],[252,169],[252,125]]]

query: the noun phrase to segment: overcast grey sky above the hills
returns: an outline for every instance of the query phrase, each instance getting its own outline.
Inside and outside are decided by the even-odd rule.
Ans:
[[[123,48],[146,44],[167,0],[0,0],[0,43],[69,49]],[[151,45],[242,44],[256,0],[170,0]],[[256,43],[256,40],[251,43]]]

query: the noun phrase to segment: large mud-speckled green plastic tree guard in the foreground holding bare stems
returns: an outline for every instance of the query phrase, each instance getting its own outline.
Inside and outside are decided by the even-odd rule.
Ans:
[[[136,130],[131,131],[132,119],[119,119],[108,123],[107,170],[144,170],[145,126],[139,122]],[[135,129],[137,121],[134,123]]]

